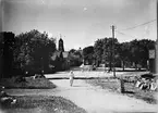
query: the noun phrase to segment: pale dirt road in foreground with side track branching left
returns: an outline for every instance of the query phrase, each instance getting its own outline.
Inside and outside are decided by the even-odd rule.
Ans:
[[[114,113],[114,112],[157,112],[157,104],[148,104],[142,100],[113,93],[100,87],[94,87],[84,80],[75,79],[70,87],[69,79],[51,80],[57,85],[56,89],[10,89],[11,95],[16,96],[61,96],[71,100],[88,113]]]

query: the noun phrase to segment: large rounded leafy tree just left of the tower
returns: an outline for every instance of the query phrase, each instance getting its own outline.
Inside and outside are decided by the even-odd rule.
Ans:
[[[46,33],[33,29],[17,35],[15,45],[14,59],[17,68],[33,73],[49,70],[50,56],[56,51],[53,38],[49,39]]]

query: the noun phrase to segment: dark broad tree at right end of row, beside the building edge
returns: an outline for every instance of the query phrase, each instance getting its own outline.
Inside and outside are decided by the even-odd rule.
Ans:
[[[142,65],[143,67],[147,67],[147,60],[148,58],[148,51],[149,49],[155,48],[155,41],[148,40],[148,39],[142,39],[137,40],[134,39],[130,42],[123,43],[124,47],[122,47],[121,56],[125,56],[125,60],[129,60],[129,62],[135,64],[135,68],[137,68],[137,65]],[[126,45],[126,46],[125,46]],[[124,49],[124,50],[123,50]],[[120,52],[120,53],[122,53]],[[125,55],[125,53],[127,53]],[[141,67],[139,67],[141,68]]]

